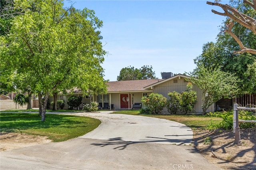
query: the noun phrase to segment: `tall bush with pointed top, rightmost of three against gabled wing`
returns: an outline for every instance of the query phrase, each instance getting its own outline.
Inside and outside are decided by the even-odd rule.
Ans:
[[[193,91],[192,83],[187,84],[187,90],[181,93],[180,108],[185,111],[185,115],[193,111],[193,108],[197,102],[196,91]]]

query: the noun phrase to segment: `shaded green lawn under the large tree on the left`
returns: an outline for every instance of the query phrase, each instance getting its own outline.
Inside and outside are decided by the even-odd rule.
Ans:
[[[82,136],[100,125],[100,120],[72,115],[46,114],[41,122],[38,113],[1,113],[0,132],[19,132],[48,136],[53,142],[60,142]]]

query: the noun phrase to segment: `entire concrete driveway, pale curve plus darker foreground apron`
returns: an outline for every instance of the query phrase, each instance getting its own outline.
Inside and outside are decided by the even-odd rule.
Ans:
[[[78,138],[1,152],[0,168],[218,169],[195,151],[192,130],[164,119],[102,113],[66,113],[100,119]]]

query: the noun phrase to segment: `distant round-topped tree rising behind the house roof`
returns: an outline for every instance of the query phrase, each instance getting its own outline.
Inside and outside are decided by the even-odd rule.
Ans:
[[[140,69],[134,69],[132,66],[122,68],[119,76],[117,76],[117,81],[156,79],[155,72],[152,69],[152,66],[148,65],[144,65]]]

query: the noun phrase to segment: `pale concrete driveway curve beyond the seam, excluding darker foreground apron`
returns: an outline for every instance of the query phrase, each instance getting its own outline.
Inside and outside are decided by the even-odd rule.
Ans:
[[[80,138],[176,145],[189,145],[193,139],[192,130],[181,123],[145,116],[109,113],[111,112],[76,113],[102,122],[98,128]]]

